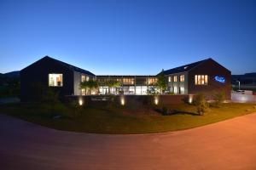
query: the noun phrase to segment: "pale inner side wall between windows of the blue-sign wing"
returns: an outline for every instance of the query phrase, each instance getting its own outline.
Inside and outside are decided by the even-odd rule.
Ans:
[[[180,82],[179,77],[181,75],[184,75],[184,82]],[[173,77],[177,76],[177,82],[173,81]],[[172,82],[168,82],[169,77],[172,77]],[[170,74],[170,75],[166,75],[166,81],[167,81],[167,85],[168,85],[168,90],[171,93],[174,93],[174,87],[177,87],[177,94],[181,94],[179,88],[184,88],[184,93],[183,94],[188,94],[188,81],[189,81],[189,77],[188,77],[188,72],[182,72],[182,73],[177,73],[177,74]]]

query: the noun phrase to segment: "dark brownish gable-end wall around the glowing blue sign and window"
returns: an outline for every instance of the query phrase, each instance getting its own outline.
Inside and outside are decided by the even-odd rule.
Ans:
[[[195,85],[195,75],[208,75],[208,84],[207,85]],[[214,77],[224,77],[225,82],[217,82],[214,80]],[[189,94],[198,94],[204,93],[208,96],[224,92],[227,99],[230,99],[231,93],[231,72],[225,69],[222,65],[219,65],[212,59],[207,60],[206,62],[198,65],[191,71],[189,71],[189,80],[188,80],[188,93]]]

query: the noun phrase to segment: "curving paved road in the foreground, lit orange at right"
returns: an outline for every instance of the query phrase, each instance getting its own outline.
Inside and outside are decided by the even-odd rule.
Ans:
[[[256,114],[175,133],[62,132],[0,115],[0,169],[256,169]]]

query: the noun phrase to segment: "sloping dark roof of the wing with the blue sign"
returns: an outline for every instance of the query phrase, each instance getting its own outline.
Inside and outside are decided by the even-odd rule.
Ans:
[[[211,59],[211,58],[209,58]],[[190,71],[191,69],[195,68],[198,65],[201,65],[201,63],[207,61],[208,59],[204,59],[201,61],[197,61],[195,63],[191,63],[189,65],[182,65],[173,69],[169,69],[167,71],[164,71],[165,75],[169,75],[169,74],[175,74],[175,73],[179,73],[179,72],[185,72],[185,71]]]

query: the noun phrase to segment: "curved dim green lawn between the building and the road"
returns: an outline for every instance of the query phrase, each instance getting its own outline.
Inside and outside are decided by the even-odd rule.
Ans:
[[[49,109],[35,104],[0,105],[0,112],[19,117],[55,129],[84,133],[162,133],[192,127],[200,127],[212,122],[224,121],[236,116],[256,112],[253,104],[224,104],[220,108],[211,107],[204,116],[195,116],[195,106],[168,105],[172,110],[181,113],[172,116],[161,116],[155,111],[86,108],[81,115],[73,118],[53,119]],[[72,112],[67,106],[59,106],[55,113]],[[64,114],[64,115],[65,115]]]

